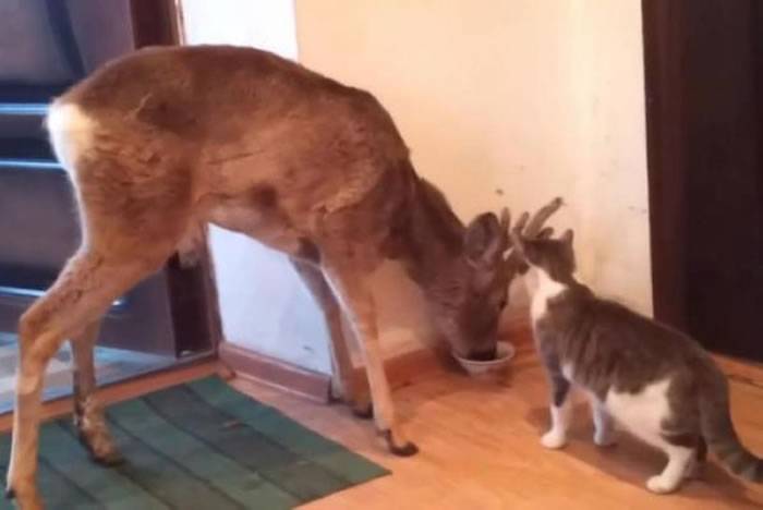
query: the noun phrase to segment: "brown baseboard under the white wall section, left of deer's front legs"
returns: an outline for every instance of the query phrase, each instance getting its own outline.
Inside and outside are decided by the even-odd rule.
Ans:
[[[230,342],[222,342],[219,355],[237,376],[255,379],[316,402],[328,402],[331,377],[261,354]]]

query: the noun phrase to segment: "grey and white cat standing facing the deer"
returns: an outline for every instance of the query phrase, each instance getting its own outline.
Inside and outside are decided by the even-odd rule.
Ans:
[[[665,452],[665,469],[646,482],[653,493],[677,490],[695,475],[707,447],[736,475],[763,482],[763,461],[734,429],[726,377],[697,341],[580,283],[571,230],[559,239],[512,238],[530,269],[535,347],[552,386],[543,446],[567,442],[574,386],[590,399],[596,445],[614,442],[617,422]]]

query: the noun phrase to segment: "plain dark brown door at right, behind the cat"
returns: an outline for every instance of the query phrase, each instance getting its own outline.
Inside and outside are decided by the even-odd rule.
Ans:
[[[763,5],[643,0],[654,303],[763,361]]]

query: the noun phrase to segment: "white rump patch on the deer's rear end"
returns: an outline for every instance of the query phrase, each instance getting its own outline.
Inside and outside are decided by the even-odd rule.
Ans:
[[[72,172],[77,158],[90,146],[96,123],[73,104],[53,102],[46,120],[59,162]]]

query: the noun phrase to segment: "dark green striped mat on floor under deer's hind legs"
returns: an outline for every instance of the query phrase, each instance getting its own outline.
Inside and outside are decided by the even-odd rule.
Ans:
[[[43,425],[38,483],[46,508],[288,509],[388,474],[218,377],[129,400],[107,414],[126,459],[117,467],[89,460],[70,420]],[[10,435],[2,436],[3,472],[10,448]]]

